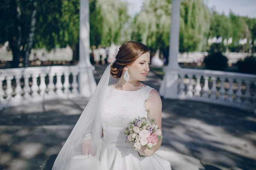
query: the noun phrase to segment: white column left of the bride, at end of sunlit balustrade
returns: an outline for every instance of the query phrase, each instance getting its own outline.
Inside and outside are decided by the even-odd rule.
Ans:
[[[90,24],[89,0],[80,0],[79,30],[79,92],[81,96],[90,97],[96,89],[93,70],[90,63]]]

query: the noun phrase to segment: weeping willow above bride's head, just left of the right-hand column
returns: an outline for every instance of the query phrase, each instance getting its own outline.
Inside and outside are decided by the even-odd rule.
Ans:
[[[151,50],[169,45],[171,24],[170,0],[145,0],[134,19],[133,39],[148,45]]]

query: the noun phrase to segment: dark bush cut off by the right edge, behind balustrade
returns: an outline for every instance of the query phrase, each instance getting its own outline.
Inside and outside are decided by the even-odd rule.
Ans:
[[[240,73],[256,74],[256,57],[247,56],[244,59],[240,59],[236,62],[236,65]]]

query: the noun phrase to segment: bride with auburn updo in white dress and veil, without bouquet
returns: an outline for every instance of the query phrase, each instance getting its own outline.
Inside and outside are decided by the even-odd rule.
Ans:
[[[134,150],[125,144],[125,128],[134,118],[156,119],[162,129],[162,102],[158,92],[140,81],[149,71],[150,50],[140,42],[125,42],[108,65],[76,126],[62,147],[52,170],[77,170],[78,156],[85,166],[98,170],[171,170],[170,162],[145,146]],[[164,137],[164,136],[163,136]],[[140,157],[140,155],[145,157]],[[93,160],[92,159],[92,160]],[[83,166],[84,170],[87,170]],[[90,168],[89,168],[90,169]],[[94,169],[94,168],[93,168]],[[80,170],[80,169],[79,169]]]

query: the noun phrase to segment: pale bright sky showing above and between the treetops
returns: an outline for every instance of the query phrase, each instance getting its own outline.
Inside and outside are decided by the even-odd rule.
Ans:
[[[140,11],[140,8],[144,0],[125,0],[129,6],[129,14],[134,16]],[[256,0],[204,0],[209,8],[215,8],[220,14],[228,15],[230,9],[239,16],[248,16],[250,18],[256,18]]]

